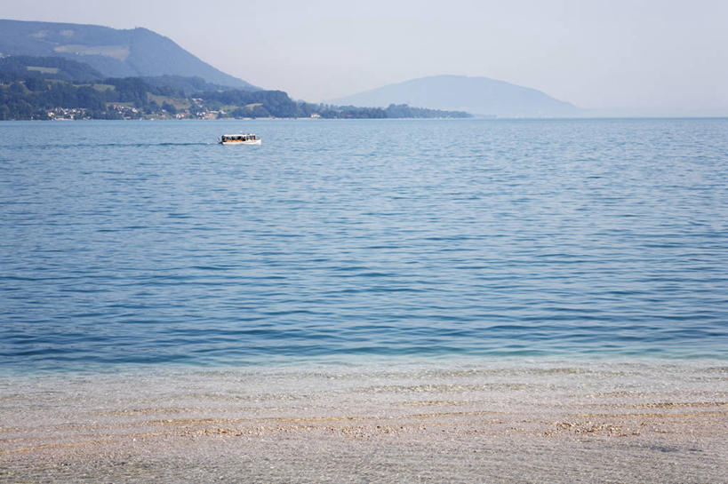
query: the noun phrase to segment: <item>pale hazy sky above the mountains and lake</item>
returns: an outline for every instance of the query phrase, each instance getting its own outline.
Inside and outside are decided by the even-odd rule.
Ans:
[[[728,115],[726,0],[0,0],[0,18],[149,28],[309,102],[450,74],[585,108]]]

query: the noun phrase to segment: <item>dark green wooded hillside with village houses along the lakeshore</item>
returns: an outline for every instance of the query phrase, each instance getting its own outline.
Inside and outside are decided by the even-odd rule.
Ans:
[[[17,70],[2,70],[2,64],[0,120],[300,117],[313,112],[283,91],[228,90],[221,97],[214,90],[188,96],[184,89],[163,85],[164,78],[65,81],[57,78],[62,72],[58,68],[31,69],[19,77]],[[197,81],[189,78],[185,84]],[[210,85],[198,84],[205,86]]]

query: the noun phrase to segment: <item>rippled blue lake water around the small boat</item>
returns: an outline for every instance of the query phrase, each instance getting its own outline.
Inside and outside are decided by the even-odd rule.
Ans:
[[[0,234],[4,369],[728,357],[725,119],[4,122]]]

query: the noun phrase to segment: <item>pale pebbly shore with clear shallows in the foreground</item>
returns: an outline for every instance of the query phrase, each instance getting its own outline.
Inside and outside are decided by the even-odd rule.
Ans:
[[[722,361],[0,377],[0,482],[725,482]]]

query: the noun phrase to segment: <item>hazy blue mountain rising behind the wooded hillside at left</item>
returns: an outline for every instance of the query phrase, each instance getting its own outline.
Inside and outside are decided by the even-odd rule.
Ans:
[[[19,55],[76,60],[105,77],[180,75],[238,89],[259,89],[147,28],[0,20],[0,56]]]

